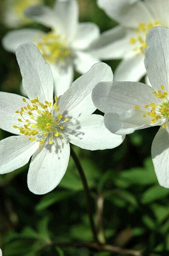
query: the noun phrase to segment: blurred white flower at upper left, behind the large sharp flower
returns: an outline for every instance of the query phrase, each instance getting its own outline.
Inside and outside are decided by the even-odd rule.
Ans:
[[[99,62],[87,52],[91,42],[99,37],[99,28],[89,22],[78,23],[76,0],[58,0],[53,10],[43,5],[29,7],[25,16],[52,30],[49,33],[37,29],[11,31],[3,39],[3,46],[16,52],[16,48],[25,42],[36,44],[52,69],[55,93],[62,95],[72,83],[73,67],[84,73]]]

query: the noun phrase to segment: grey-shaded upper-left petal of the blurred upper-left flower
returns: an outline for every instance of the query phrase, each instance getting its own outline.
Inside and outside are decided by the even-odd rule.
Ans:
[[[32,5],[24,10],[25,16],[35,22],[39,22],[46,27],[57,27],[57,33],[61,33],[63,30],[63,25],[54,11],[46,7],[45,5]]]

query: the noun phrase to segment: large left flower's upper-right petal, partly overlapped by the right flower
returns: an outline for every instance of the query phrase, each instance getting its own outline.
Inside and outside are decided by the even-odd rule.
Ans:
[[[112,70],[105,63],[98,63],[80,76],[58,100],[60,112],[68,112],[70,117],[92,114],[96,108],[91,99],[91,91],[101,81],[112,81]]]

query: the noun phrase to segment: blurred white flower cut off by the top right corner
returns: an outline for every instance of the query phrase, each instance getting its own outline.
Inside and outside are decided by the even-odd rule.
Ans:
[[[168,0],[98,0],[117,27],[102,33],[95,51],[101,59],[122,59],[114,80],[138,81],[146,74],[144,48],[147,31],[154,26],[169,27]],[[102,47],[102,48],[101,48]]]

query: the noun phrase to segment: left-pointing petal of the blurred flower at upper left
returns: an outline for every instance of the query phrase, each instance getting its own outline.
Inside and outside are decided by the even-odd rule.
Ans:
[[[3,37],[2,44],[5,50],[15,53],[20,44],[24,44],[25,42],[37,42],[40,34],[43,34],[43,32],[37,29],[18,29],[10,31]]]

